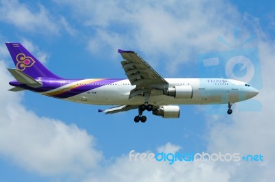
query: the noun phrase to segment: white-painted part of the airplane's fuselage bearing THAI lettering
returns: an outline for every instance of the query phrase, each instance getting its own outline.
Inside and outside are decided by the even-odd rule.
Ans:
[[[149,104],[152,105],[173,105],[173,104],[222,104],[236,103],[252,98],[258,91],[242,81],[232,79],[166,79],[169,87],[191,86],[192,98],[176,99],[173,96],[166,96],[162,90],[151,92]],[[76,84],[76,83],[74,83]],[[66,98],[67,101],[87,103],[94,105],[141,105],[144,103],[144,96],[137,95],[129,99],[131,86],[128,79],[106,84],[87,92]]]

